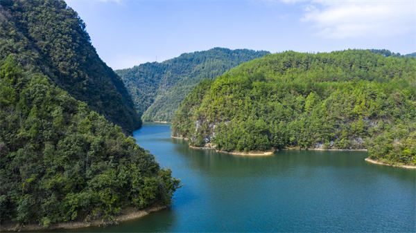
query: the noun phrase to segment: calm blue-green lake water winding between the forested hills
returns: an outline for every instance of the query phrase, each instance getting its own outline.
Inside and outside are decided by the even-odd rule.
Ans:
[[[242,157],[190,149],[168,124],[134,132],[181,178],[174,205],[78,232],[416,232],[416,171],[372,165],[363,151]]]

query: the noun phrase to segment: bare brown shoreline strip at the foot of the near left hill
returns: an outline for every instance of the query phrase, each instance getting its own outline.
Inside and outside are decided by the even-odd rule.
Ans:
[[[168,206],[166,205],[156,205],[154,207],[148,207],[146,209],[137,210],[133,207],[128,207],[121,211],[119,216],[116,216],[116,223],[122,223],[125,221],[132,221],[137,218],[141,218],[146,216],[150,213],[157,212],[162,209],[167,209]],[[89,222],[83,221],[71,221],[66,223],[55,223],[49,227],[41,227],[37,224],[29,224],[29,225],[19,225],[18,223],[10,223],[5,225],[0,225],[0,232],[30,232],[30,231],[42,231],[42,230],[57,230],[57,229],[78,229],[78,228],[85,228],[85,227],[99,227],[102,225],[106,225],[101,219],[96,219]]]

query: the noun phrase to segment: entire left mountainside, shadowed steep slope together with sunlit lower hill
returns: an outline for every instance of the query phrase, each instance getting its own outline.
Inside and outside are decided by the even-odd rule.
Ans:
[[[1,227],[114,221],[125,207],[171,203],[179,180],[108,120],[141,124],[76,12],[0,0]]]

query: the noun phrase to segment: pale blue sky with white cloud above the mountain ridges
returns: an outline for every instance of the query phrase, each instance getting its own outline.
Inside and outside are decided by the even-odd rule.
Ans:
[[[214,47],[416,51],[416,0],[66,0],[113,69]]]

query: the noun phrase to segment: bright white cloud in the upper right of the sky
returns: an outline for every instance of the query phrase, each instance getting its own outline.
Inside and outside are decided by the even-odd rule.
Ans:
[[[302,4],[300,19],[329,38],[385,37],[416,32],[416,1],[281,0]]]

